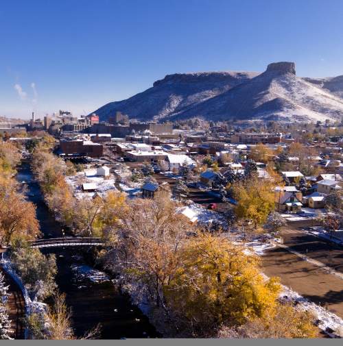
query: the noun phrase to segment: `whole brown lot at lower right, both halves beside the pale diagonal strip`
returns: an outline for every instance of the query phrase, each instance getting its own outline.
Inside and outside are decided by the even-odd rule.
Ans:
[[[343,248],[338,245],[298,229],[284,230],[283,243],[300,254],[343,272]],[[316,304],[327,304],[331,312],[343,318],[342,279],[280,247],[266,251],[262,262],[266,275],[281,277],[282,284]]]

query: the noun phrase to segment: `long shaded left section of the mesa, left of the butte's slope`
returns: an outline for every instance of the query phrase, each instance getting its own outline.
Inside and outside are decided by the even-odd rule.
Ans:
[[[107,103],[95,110],[101,120],[117,110],[134,119],[163,119],[206,101],[255,77],[248,72],[177,73],[154,82],[154,86],[129,99]]]

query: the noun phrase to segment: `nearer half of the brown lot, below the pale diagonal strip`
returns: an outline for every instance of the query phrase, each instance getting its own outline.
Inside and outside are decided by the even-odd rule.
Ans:
[[[263,272],[281,277],[281,283],[316,304],[328,305],[331,312],[343,318],[343,280],[276,247],[262,256]]]

